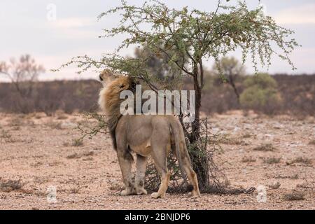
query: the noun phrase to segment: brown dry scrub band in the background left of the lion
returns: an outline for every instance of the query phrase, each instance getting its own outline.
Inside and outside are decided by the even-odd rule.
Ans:
[[[10,83],[0,83],[0,111],[13,113],[44,112],[57,115],[58,120],[65,120],[66,115],[74,111],[90,111],[97,102],[99,88],[94,80],[63,80],[35,83],[31,96],[19,97]],[[42,115],[38,115],[40,119]]]

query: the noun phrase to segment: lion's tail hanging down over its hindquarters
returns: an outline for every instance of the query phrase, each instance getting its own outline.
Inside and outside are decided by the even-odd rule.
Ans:
[[[183,162],[182,162],[182,158],[181,158],[181,135],[183,135],[183,127],[181,127],[181,123],[177,122],[177,120],[171,120],[170,122],[170,128],[171,128],[171,132],[173,134],[174,137],[174,141],[175,141],[175,151],[176,151],[176,155],[177,155],[177,160],[179,160],[179,169],[181,169],[181,175],[183,176],[183,180],[187,181],[186,179],[186,172],[184,172],[183,169]],[[185,142],[183,142],[183,144],[185,144]],[[183,150],[186,150],[186,148],[183,148]]]

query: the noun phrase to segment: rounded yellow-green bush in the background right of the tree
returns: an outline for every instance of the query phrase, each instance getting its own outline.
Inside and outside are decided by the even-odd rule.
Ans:
[[[241,93],[240,103],[244,109],[253,109],[272,114],[279,110],[281,94],[276,89],[276,80],[267,73],[258,73],[244,80],[246,87]]]

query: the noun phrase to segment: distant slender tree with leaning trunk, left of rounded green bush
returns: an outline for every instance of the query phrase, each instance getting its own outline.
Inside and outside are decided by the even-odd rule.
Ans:
[[[235,57],[223,57],[217,64],[214,64],[214,73],[223,75],[228,84],[232,86],[239,103],[239,90],[237,90],[235,81],[239,76],[243,76],[246,73],[243,64]]]

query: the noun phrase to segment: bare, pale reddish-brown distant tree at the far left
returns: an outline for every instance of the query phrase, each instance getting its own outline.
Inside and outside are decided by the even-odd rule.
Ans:
[[[30,55],[22,55],[18,60],[10,59],[9,63],[0,62],[0,74],[9,78],[20,97],[31,95],[34,83],[43,72],[43,66],[36,64]]]

